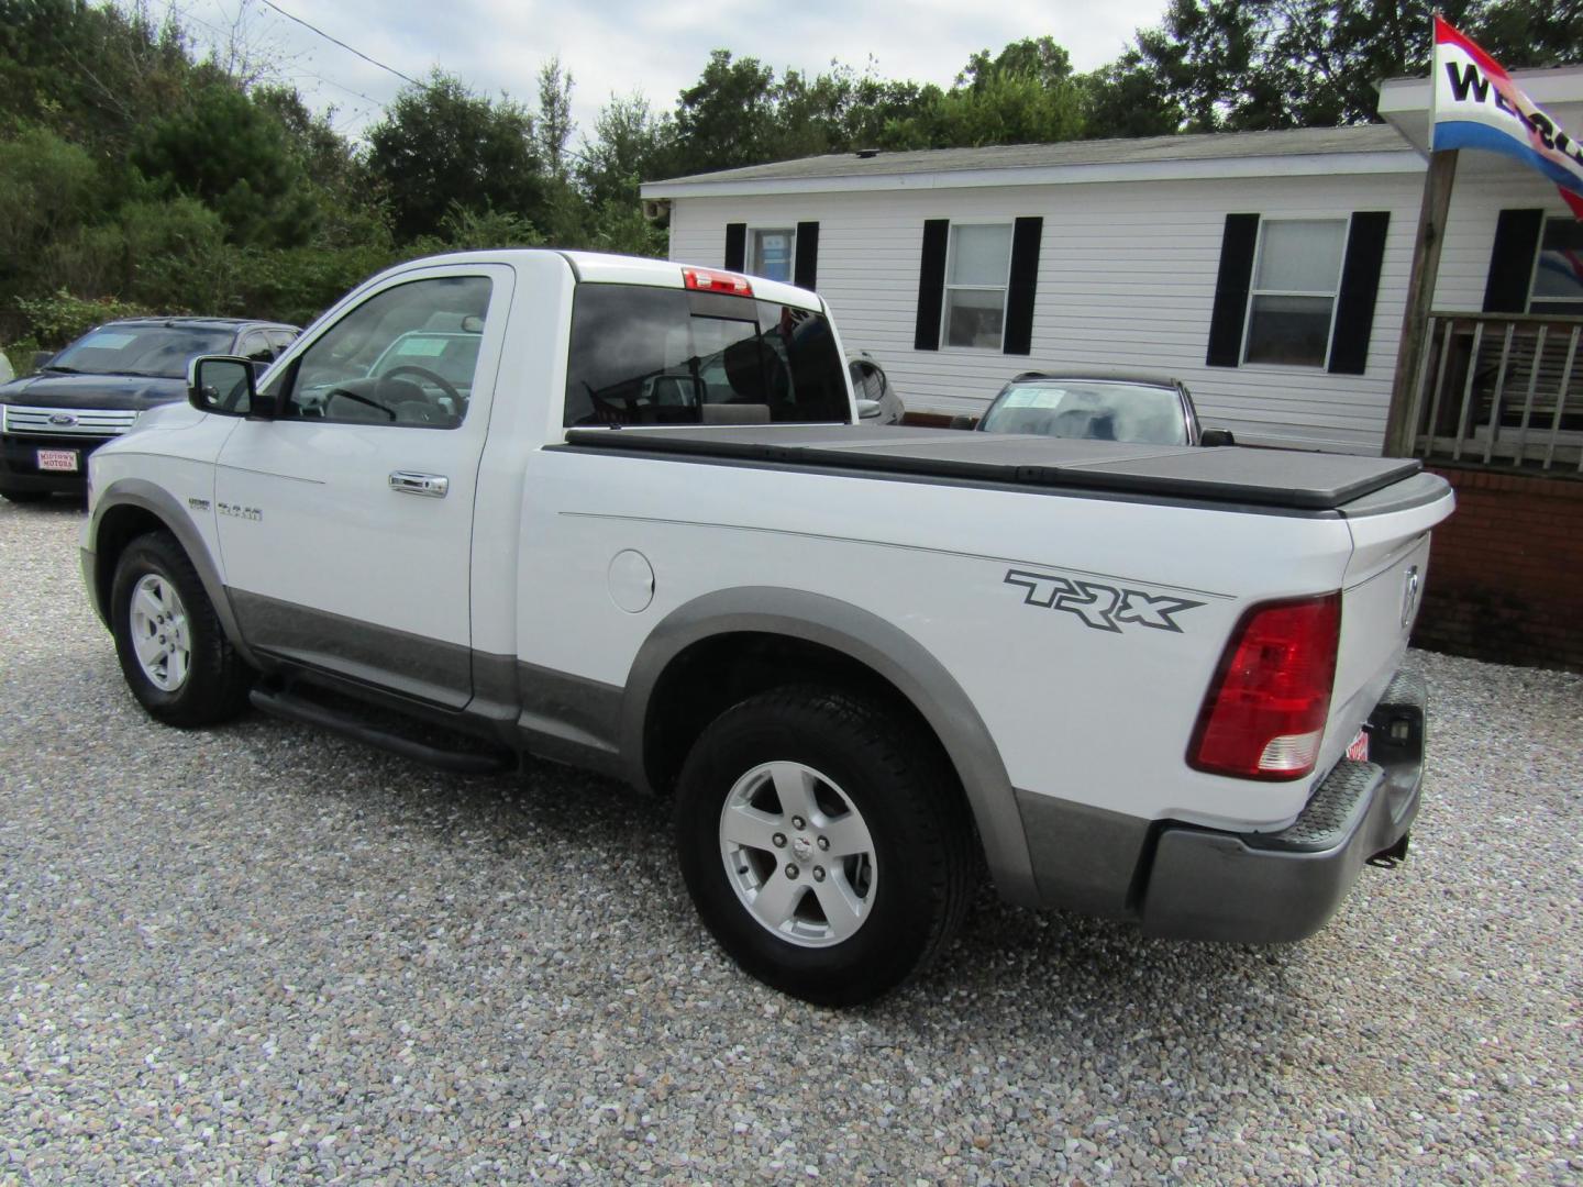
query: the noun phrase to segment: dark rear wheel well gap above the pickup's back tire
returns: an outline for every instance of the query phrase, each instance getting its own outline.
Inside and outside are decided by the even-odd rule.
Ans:
[[[649,785],[671,794],[687,753],[714,719],[749,696],[793,684],[841,688],[905,717],[936,749],[934,758],[961,794],[956,768],[934,726],[894,684],[834,647],[768,631],[700,639],[666,665],[643,728]]]

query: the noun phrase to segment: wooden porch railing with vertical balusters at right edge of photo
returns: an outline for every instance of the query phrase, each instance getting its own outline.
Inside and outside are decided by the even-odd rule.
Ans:
[[[1412,456],[1583,475],[1583,317],[1431,313]]]

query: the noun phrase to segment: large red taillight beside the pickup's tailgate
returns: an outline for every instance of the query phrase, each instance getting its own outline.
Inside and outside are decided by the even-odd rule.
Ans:
[[[1319,760],[1341,638],[1341,594],[1254,606],[1232,635],[1189,766],[1239,779],[1301,779]]]

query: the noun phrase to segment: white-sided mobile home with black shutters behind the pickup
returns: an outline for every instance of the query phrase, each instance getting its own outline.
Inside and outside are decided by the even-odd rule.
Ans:
[[[1517,81],[1583,125],[1583,70]],[[1239,440],[1379,453],[1428,84],[1385,84],[1380,112],[1391,122],[817,157],[643,196],[670,206],[673,260],[817,288],[912,413],[977,413],[1024,370],[1146,369]],[[1461,154],[1434,307],[1583,313],[1577,226],[1537,174]]]

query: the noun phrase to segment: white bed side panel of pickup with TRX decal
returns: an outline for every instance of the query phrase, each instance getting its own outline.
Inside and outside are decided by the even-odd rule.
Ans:
[[[888,619],[939,658],[1018,788],[1239,828],[1279,828],[1306,801],[1311,780],[1208,776],[1186,750],[1246,606],[1341,587],[1352,540],[1339,516],[551,449],[530,459],[522,525],[530,663],[621,687],[655,624],[693,598],[806,590]],[[625,549],[655,573],[636,614],[609,595]],[[1129,590],[1143,606],[1132,619],[1183,605],[1170,627],[1127,620]]]

